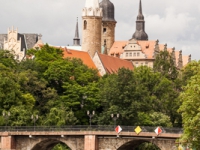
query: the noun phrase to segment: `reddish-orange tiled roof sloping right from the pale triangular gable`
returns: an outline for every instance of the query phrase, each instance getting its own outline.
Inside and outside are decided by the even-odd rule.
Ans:
[[[98,53],[98,56],[108,74],[117,73],[120,68],[126,68],[130,70],[134,69],[132,62],[130,61],[100,53]]]

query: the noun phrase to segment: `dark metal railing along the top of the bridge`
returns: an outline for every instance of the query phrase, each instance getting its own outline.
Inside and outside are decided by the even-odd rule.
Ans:
[[[123,132],[135,132],[136,126],[121,126]],[[142,132],[154,132],[156,127],[141,126]],[[182,134],[182,128],[165,128],[161,127],[163,133],[175,133]],[[48,131],[48,132],[60,132],[60,131],[115,131],[114,126],[110,125],[70,125],[70,126],[0,126],[0,132],[32,132],[32,131]]]

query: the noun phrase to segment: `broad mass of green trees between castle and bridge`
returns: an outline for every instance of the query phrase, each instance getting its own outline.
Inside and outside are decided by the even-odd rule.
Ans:
[[[32,115],[39,116],[38,126],[88,125],[86,112],[94,110],[95,125],[182,127],[182,113],[186,138],[200,139],[200,62],[177,70],[163,51],[153,69],[121,68],[100,77],[81,60],[64,59],[58,48],[44,45],[28,55],[34,59],[18,62],[0,50],[0,113],[11,114],[1,116],[0,125],[32,126]],[[119,114],[116,122],[111,114]]]

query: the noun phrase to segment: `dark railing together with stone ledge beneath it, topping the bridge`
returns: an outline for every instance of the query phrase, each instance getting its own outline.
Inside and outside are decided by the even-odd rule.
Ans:
[[[154,132],[156,127],[141,127],[142,132],[136,134],[133,126],[122,126],[122,132],[119,133],[120,137],[144,137],[144,138],[179,138],[182,135],[180,128],[162,128],[163,132],[157,136]],[[84,135],[97,135],[117,136],[113,126],[65,126],[65,127],[0,127],[0,136],[8,135],[32,135],[32,136],[84,136]]]

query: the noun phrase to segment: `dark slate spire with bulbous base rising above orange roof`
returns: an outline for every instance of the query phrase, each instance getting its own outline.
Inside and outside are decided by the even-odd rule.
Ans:
[[[144,16],[142,14],[141,0],[140,0],[140,4],[139,4],[139,13],[137,16],[137,21],[136,21],[136,31],[133,34],[132,38],[136,39],[136,40],[143,40],[143,41],[148,40],[148,35],[145,32],[145,21],[144,21]]]

